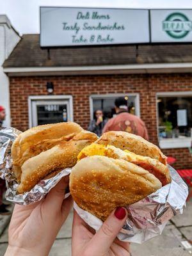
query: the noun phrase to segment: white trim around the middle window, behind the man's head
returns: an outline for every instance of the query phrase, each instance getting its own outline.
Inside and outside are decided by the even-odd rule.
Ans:
[[[108,99],[112,97],[134,96],[136,116],[140,117],[140,94],[139,93],[108,93],[108,94],[92,94],[90,95],[90,116],[93,120],[93,99]]]

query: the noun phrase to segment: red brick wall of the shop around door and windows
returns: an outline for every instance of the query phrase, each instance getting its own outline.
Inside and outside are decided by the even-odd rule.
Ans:
[[[104,93],[140,93],[141,118],[150,141],[157,144],[156,93],[192,90],[192,74],[140,74],[111,76],[10,77],[12,126],[28,129],[28,96],[47,95],[46,83],[54,83],[54,95],[72,95],[74,121],[86,129],[90,121],[89,96]],[[192,168],[188,149],[164,150],[177,158],[175,168]]]

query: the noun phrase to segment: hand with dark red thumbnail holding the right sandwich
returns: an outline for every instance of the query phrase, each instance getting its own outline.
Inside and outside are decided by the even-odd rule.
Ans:
[[[118,207],[95,234],[74,211],[72,256],[130,256],[129,243],[115,239],[126,217],[127,211]]]

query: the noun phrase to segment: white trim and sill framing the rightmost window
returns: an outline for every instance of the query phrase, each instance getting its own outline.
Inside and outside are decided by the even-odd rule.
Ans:
[[[188,148],[191,147],[192,137],[190,138],[167,138],[159,140],[159,111],[158,97],[192,96],[191,91],[186,92],[157,92],[156,93],[156,113],[157,113],[157,136],[160,148]],[[191,134],[192,135],[192,134]]]

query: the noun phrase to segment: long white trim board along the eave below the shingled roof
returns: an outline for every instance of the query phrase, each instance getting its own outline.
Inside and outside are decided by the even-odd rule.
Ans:
[[[192,63],[151,63],[83,67],[5,67],[3,68],[3,71],[8,74],[8,76],[182,73],[192,72]]]

